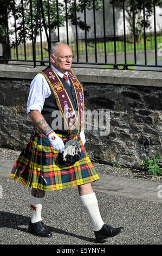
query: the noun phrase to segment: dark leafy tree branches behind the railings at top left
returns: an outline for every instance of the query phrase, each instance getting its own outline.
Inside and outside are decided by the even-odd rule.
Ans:
[[[87,29],[88,31],[90,27],[87,26],[85,22],[81,21],[80,17],[75,17],[75,8],[77,12],[83,12],[85,6],[86,9],[89,10],[93,7],[95,7],[95,10],[99,10],[102,7],[100,0],[77,0],[76,7],[74,5],[74,0],[64,0],[62,2],[58,2],[59,3],[57,5],[56,1],[54,0],[1,0],[2,7],[0,9],[0,43],[2,43],[3,46],[6,46],[3,49],[4,59],[8,59],[9,57],[7,50],[7,35],[10,36],[10,47],[16,47],[16,44],[19,45],[21,42],[23,43],[24,40],[31,40],[34,35],[35,28],[37,35],[39,35],[44,26],[49,29],[50,23],[50,32],[53,32],[57,28],[58,19],[59,26],[61,27],[64,26],[66,18],[72,22],[72,25],[77,25],[81,29]],[[65,8],[66,5],[68,7],[67,13]],[[41,6],[42,11],[37,12],[38,9],[41,10]],[[48,13],[50,15],[50,22],[48,22],[47,18]],[[13,14],[15,14],[16,24],[14,23],[12,29],[8,31],[8,19]],[[43,15],[45,17],[44,22],[42,19]],[[15,31],[17,35],[16,40]]]

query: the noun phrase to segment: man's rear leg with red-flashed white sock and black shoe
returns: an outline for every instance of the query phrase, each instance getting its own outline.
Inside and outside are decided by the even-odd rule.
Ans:
[[[43,236],[51,237],[52,234],[48,228],[42,222],[41,210],[44,202],[45,191],[38,188],[32,188],[30,195],[30,206],[32,209],[32,216],[29,223],[29,233]]]

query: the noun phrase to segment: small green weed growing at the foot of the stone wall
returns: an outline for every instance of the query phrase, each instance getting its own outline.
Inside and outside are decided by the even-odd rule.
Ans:
[[[161,160],[162,159],[160,159],[157,154],[155,154],[155,157],[147,157],[147,160],[145,160],[142,165],[142,169],[146,170],[148,173],[152,173],[155,176],[161,174],[162,169],[158,166],[158,162]]]

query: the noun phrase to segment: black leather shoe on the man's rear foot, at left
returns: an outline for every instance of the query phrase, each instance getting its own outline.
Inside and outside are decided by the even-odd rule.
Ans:
[[[37,236],[43,236],[43,237],[51,237],[52,233],[48,230],[47,227],[45,227],[44,223],[42,221],[38,221],[36,223],[29,222],[28,231],[31,234],[37,235]]]

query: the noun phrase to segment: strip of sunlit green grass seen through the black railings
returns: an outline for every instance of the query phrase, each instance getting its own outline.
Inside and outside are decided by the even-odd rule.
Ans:
[[[157,45],[159,42],[162,41],[162,36],[157,36]],[[43,59],[48,59],[48,52],[46,49],[48,49],[47,42],[43,42]],[[72,48],[73,54],[76,55],[76,44],[70,43],[69,46]],[[136,51],[144,51],[144,39],[141,39],[139,42],[135,43]],[[79,56],[85,56],[86,55],[86,45],[84,41],[79,41],[78,43],[79,48]],[[27,60],[33,59],[33,48],[31,43],[26,44],[26,50],[27,50]],[[96,50],[98,54],[104,54],[105,53],[105,45],[104,42],[98,42],[96,44]],[[116,41],[116,54],[124,53],[124,41]],[[154,50],[154,36],[147,36],[146,40],[146,50],[151,51]],[[134,52],[134,44],[133,42],[129,42],[127,40],[126,42],[126,51],[128,52]],[[16,60],[16,49],[12,49],[12,59]],[[114,41],[108,41],[106,42],[106,52],[107,54],[114,52]],[[93,42],[88,43],[87,45],[87,53],[88,56],[91,54],[94,56],[95,54],[95,45]],[[18,46],[18,59],[24,59],[24,46],[23,44]],[[36,42],[36,60],[41,60],[41,44],[40,42]],[[149,61],[149,60],[147,60]],[[134,64],[134,62],[128,62],[127,64]],[[112,68],[112,66],[105,66],[105,68]],[[129,69],[134,69],[134,66],[129,66]]]

